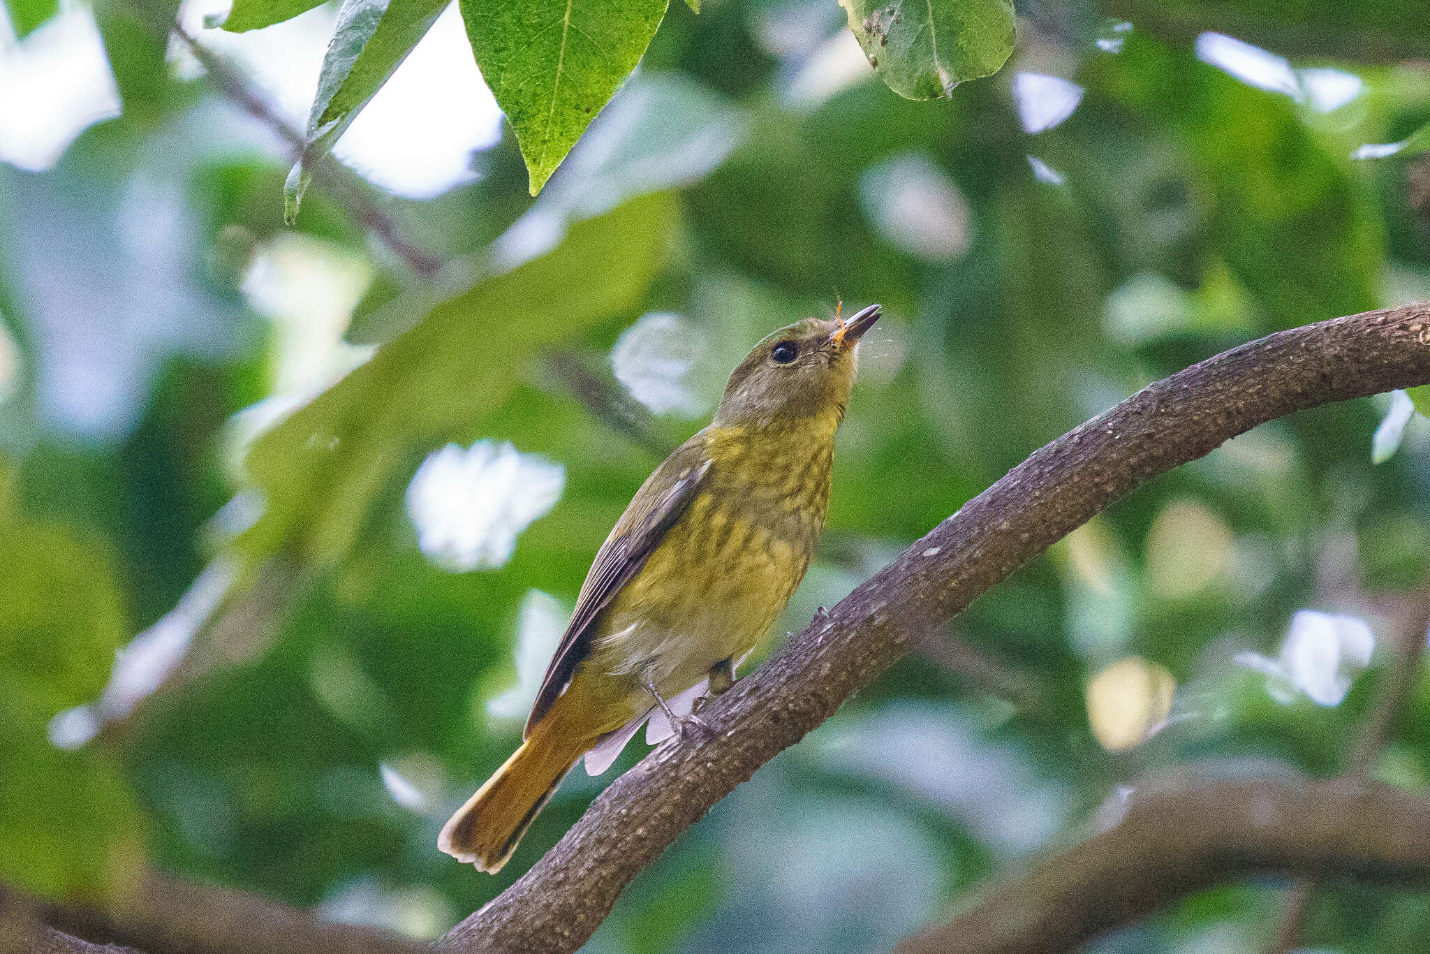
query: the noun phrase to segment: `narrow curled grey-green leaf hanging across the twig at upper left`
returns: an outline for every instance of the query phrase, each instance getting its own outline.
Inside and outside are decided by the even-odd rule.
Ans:
[[[283,185],[283,217],[297,217],[313,164],[428,34],[450,0],[343,0],[307,117],[307,144]]]

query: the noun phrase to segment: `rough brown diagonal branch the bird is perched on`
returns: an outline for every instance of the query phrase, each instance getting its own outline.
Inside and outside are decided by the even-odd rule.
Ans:
[[[1273,418],[1426,382],[1430,305],[1421,303],[1278,332],[1144,388],[1030,456],[818,615],[702,711],[715,738],[675,739],[648,755],[443,944],[576,950],[625,885],[711,805],[869,685],[918,634],[1113,501]]]

